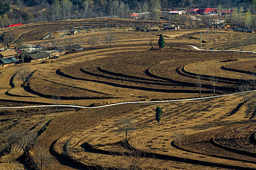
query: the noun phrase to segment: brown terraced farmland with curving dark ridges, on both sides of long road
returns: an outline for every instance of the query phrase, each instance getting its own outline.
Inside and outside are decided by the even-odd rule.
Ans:
[[[84,51],[70,52],[46,63],[0,68],[0,106],[55,105],[0,109],[0,170],[29,169],[29,160],[17,142],[12,144],[11,153],[5,150],[11,134],[17,133],[22,135],[21,145],[29,142],[27,134],[36,134],[28,155],[40,167],[43,151],[47,157],[43,170],[128,170],[134,159],[145,170],[256,169],[255,92],[246,93],[245,101],[243,95],[232,95],[89,109],[58,106],[198,98],[197,74],[203,75],[202,97],[213,96],[210,76],[218,78],[216,95],[234,93],[241,84],[253,89],[255,53],[196,51],[187,46],[199,47],[200,32],[207,39],[205,29],[115,30],[115,24],[141,23],[125,19],[35,23],[12,31],[27,41],[42,43],[40,38],[48,31],[79,25],[104,28],[106,23],[116,34],[111,48],[104,42],[104,29],[81,32],[65,36],[62,41],[79,42]],[[166,47],[149,50],[150,38],[158,47],[159,34],[165,35]],[[203,44],[204,49],[256,51],[255,44],[249,41],[252,34],[209,34],[210,41]],[[95,49],[87,43],[92,35],[101,42]],[[242,45],[237,44],[239,40]],[[60,44],[60,37],[52,41]],[[231,56],[237,61],[223,62]],[[17,74],[20,67],[29,70],[25,85]],[[53,96],[59,96],[59,101]],[[163,110],[159,125],[155,120],[157,106]],[[121,119],[129,119],[133,125],[128,140],[120,131]]]

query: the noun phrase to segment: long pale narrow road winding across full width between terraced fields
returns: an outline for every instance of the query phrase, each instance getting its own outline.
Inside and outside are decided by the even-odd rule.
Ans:
[[[61,104],[58,104],[58,106],[61,106],[61,107],[73,107],[73,108],[92,109],[92,108],[109,107],[109,106],[114,106],[114,105],[131,104],[131,103],[161,103],[161,102],[199,101],[199,100],[220,98],[220,97],[232,96],[232,95],[237,95],[237,94],[242,94],[242,93],[249,93],[249,92],[250,92],[250,93],[251,93],[251,92],[256,92],[256,90],[251,90],[251,91],[246,91],[246,92],[238,92],[238,93],[232,93],[232,94],[225,94],[225,95],[219,95],[219,96],[204,97],[204,98],[180,99],[180,100],[171,100],[171,101],[119,102],[119,103],[108,104],[108,105],[102,105],[102,106],[95,106],[95,107],[77,106],[77,105],[61,105]],[[34,108],[34,107],[53,107],[53,106],[56,106],[56,104],[53,104],[53,105],[38,105],[38,106],[0,107],[0,109],[18,109],[18,108]]]

